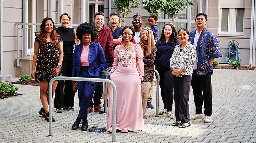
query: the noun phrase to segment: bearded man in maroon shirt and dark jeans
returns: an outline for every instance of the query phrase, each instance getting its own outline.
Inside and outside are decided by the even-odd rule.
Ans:
[[[111,63],[114,62],[114,51],[113,51],[113,36],[111,29],[109,27],[103,26],[105,23],[103,12],[96,12],[94,14],[94,23],[96,28],[98,29],[98,38],[93,41],[95,43],[100,43],[104,53],[107,50],[108,58],[111,60]],[[101,75],[101,78],[104,78],[104,75]],[[100,107],[100,99],[103,92],[103,82],[98,82],[98,85],[94,91],[94,102],[91,101],[88,107],[88,114],[92,112],[92,108],[94,107],[94,111],[97,113],[104,113],[104,111]]]

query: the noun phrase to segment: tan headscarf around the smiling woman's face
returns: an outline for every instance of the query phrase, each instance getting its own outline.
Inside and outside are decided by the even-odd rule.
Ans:
[[[149,33],[148,40],[143,40],[142,38],[142,32],[144,30],[147,30]],[[143,27],[142,30],[140,31],[140,47],[142,48],[143,52],[144,49],[146,48],[146,56],[150,55],[151,50],[155,47],[155,39],[153,35],[153,31],[149,27]]]

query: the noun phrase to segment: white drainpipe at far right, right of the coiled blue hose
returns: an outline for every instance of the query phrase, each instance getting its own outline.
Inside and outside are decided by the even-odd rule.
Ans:
[[[251,36],[250,36],[250,56],[249,56],[249,67],[252,67],[252,49],[253,49],[253,31],[254,31],[254,1],[252,0],[251,4]]]

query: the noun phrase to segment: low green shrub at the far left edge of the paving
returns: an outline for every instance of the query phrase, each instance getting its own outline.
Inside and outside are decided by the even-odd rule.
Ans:
[[[4,98],[4,95],[11,95],[14,96],[17,94],[16,91],[18,91],[18,87],[14,87],[13,84],[7,84],[7,83],[2,83],[0,84],[0,96]]]

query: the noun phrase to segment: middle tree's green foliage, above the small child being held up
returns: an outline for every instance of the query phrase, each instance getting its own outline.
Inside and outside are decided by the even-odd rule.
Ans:
[[[164,9],[166,0],[143,0],[143,9],[148,11],[150,15],[159,16],[159,10]]]

